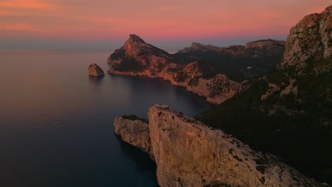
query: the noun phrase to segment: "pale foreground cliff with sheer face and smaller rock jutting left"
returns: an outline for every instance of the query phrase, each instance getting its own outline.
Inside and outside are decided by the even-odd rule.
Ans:
[[[160,186],[324,185],[168,106],[154,104],[148,118],[118,117],[114,130],[155,159]]]

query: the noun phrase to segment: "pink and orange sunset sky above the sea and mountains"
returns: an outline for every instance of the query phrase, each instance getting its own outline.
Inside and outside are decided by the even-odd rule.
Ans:
[[[332,0],[0,0],[0,48],[116,47],[135,33],[157,46],[286,40]]]

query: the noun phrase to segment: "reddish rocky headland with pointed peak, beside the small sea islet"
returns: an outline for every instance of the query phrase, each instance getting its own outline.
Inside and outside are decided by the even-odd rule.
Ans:
[[[245,82],[232,81],[223,74],[206,76],[199,62],[179,64],[170,54],[147,44],[137,35],[130,35],[108,62],[109,74],[162,78],[205,97],[210,103],[221,103],[246,86]]]

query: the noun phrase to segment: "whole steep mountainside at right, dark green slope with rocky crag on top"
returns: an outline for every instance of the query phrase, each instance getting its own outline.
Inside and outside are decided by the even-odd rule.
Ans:
[[[332,6],[306,16],[266,77],[197,119],[332,183]]]

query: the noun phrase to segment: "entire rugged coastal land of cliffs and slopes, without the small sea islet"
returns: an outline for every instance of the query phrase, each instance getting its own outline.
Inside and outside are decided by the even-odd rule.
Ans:
[[[170,55],[131,35],[109,57],[109,73],[160,77],[221,104],[195,117],[201,122],[155,104],[148,123],[122,116],[114,120],[114,130],[155,160],[160,186],[328,186],[323,182],[332,183],[331,37],[329,6],[291,29],[282,59],[269,64],[273,72],[251,79],[253,74],[243,71],[248,64],[233,67],[246,77],[238,81],[230,78],[234,72],[213,72],[218,66],[211,60],[265,62],[275,59],[284,42],[194,44]]]

